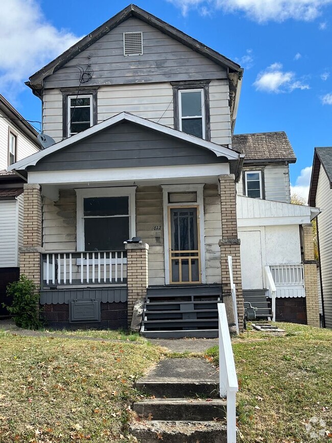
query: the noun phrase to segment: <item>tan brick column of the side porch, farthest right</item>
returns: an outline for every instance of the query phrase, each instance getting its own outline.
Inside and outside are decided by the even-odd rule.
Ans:
[[[307,324],[319,328],[319,304],[317,285],[317,262],[315,260],[313,227],[302,224],[303,268]]]

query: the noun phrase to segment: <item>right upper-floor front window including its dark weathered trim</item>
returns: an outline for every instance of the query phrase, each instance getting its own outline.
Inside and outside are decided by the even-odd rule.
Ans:
[[[174,129],[210,140],[209,81],[172,82]]]

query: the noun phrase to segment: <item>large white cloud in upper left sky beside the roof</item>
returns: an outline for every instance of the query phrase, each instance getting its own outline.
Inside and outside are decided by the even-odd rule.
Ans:
[[[24,81],[72,46],[79,37],[57,29],[36,0],[2,2],[0,14],[0,90],[10,98]]]

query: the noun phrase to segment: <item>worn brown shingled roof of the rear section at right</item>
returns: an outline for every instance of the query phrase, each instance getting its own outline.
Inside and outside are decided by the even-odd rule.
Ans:
[[[256,132],[233,135],[232,148],[250,160],[283,160],[295,163],[296,157],[286,132]]]

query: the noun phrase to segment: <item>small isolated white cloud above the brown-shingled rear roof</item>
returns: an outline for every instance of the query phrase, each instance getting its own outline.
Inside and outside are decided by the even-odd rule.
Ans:
[[[253,83],[256,90],[265,92],[292,92],[294,89],[310,89],[309,85],[296,80],[295,73],[282,71],[281,63],[273,63],[257,75]]]

